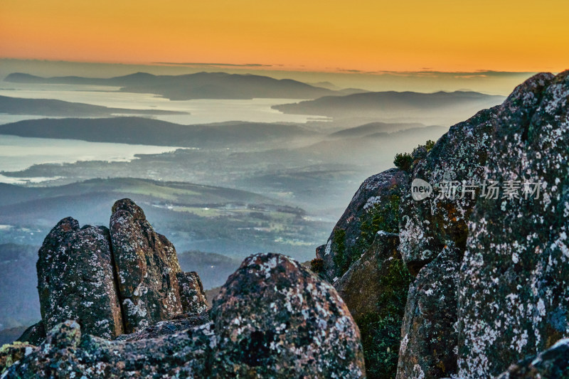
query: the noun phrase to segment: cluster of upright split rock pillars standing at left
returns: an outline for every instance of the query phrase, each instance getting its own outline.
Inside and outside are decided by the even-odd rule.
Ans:
[[[134,202],[115,203],[111,228],[112,233],[102,226],[79,228],[64,218],[51,230],[38,252],[43,319],[18,341],[38,345],[46,331],[67,319],[77,321],[83,333],[107,339],[133,331],[157,336],[172,329],[157,322],[208,309],[198,274],[181,272],[174,246],[154,232]]]

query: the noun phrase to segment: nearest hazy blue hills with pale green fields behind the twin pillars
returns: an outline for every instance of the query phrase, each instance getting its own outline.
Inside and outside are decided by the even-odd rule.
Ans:
[[[234,257],[280,251],[307,257],[329,228],[304,219],[301,208],[231,188],[137,178],[92,179],[65,186],[0,184],[0,240],[39,245],[60,219],[107,225],[119,198],[144,205],[152,225],[180,251],[210,250]]]

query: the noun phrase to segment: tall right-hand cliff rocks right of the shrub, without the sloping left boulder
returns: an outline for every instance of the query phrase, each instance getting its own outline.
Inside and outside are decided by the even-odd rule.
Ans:
[[[446,246],[459,250],[447,258],[454,261],[445,264],[461,267],[454,291],[454,297],[459,296],[458,314],[452,318],[459,320],[457,365],[465,378],[497,375],[566,333],[563,316],[555,316],[568,309],[562,288],[569,278],[563,268],[563,246],[558,244],[566,216],[563,195],[559,196],[568,174],[568,144],[563,140],[568,124],[566,76],[552,80],[551,74],[536,75],[503,105],[452,127],[425,159],[415,163],[411,177],[435,188],[443,182],[440,191],[415,201],[409,186],[402,198],[400,250],[411,272],[440,261]],[[541,199],[523,198],[523,182],[539,180],[547,181],[551,192]],[[518,196],[492,193],[491,187],[512,185]],[[558,252],[548,251],[555,246]],[[440,269],[421,274],[411,287],[408,309],[417,301],[414,291],[421,282],[445,282],[447,274]],[[446,292],[445,299],[454,304],[451,287]],[[422,311],[415,322],[430,330],[407,333],[404,326],[401,375],[437,378],[437,360],[427,351],[432,345],[429,336],[438,333],[438,320],[436,312]],[[445,335],[450,341],[456,338],[451,329]],[[408,336],[415,336],[415,347],[405,339]],[[446,349],[437,354],[452,357],[452,343]]]

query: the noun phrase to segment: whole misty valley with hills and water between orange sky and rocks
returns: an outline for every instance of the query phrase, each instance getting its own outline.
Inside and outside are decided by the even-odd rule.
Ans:
[[[0,82],[5,341],[40,318],[37,250],[62,218],[108,225],[112,204],[131,198],[174,243],[181,267],[212,289],[252,253],[311,260],[364,179],[503,100],[225,73],[8,75]]]

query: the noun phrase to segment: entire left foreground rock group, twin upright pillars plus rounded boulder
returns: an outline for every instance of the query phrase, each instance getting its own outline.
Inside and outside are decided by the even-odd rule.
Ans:
[[[1,348],[2,379],[364,376],[344,301],[284,255],[246,259],[208,309],[198,274],[123,199],[110,233],[65,218],[39,256],[43,320]]]

